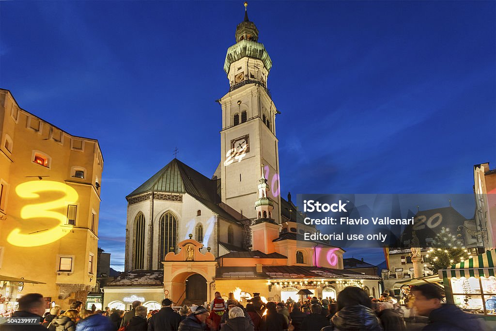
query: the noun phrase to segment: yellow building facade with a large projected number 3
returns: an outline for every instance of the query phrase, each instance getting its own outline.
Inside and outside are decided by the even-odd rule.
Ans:
[[[45,283],[26,284],[21,292],[5,292],[4,284],[0,312],[30,292],[62,309],[84,302],[96,282],[103,170],[98,141],[23,110],[4,89],[0,139],[0,275]]]

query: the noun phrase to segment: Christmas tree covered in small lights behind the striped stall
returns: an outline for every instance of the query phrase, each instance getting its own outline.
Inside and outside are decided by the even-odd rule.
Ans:
[[[437,273],[439,269],[445,269],[449,265],[470,259],[472,256],[463,244],[451,234],[448,228],[441,228],[435,236],[431,249],[426,258],[431,262],[430,268]]]

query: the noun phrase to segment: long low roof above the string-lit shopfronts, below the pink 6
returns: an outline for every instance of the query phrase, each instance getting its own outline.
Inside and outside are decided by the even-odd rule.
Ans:
[[[255,266],[222,266],[217,268],[215,279],[287,279],[287,278],[351,278],[380,279],[379,276],[363,273],[331,269],[317,266],[280,265],[262,266],[262,272],[256,272]]]

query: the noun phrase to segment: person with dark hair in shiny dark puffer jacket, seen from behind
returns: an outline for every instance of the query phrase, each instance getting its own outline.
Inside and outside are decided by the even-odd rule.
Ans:
[[[372,310],[372,302],[360,287],[348,286],[338,294],[338,311],[331,318],[331,327],[323,330],[382,330]]]

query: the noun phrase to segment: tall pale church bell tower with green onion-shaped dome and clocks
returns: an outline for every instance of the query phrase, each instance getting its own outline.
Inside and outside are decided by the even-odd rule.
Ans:
[[[263,164],[270,199],[274,201],[272,218],[280,223],[279,149],[276,138],[277,111],[267,78],[272,61],[258,29],[245,18],[236,28],[236,44],[227,50],[224,71],[229,92],[219,99],[222,106],[221,195],[222,201],[255,219],[253,201],[258,199],[257,185]]]

